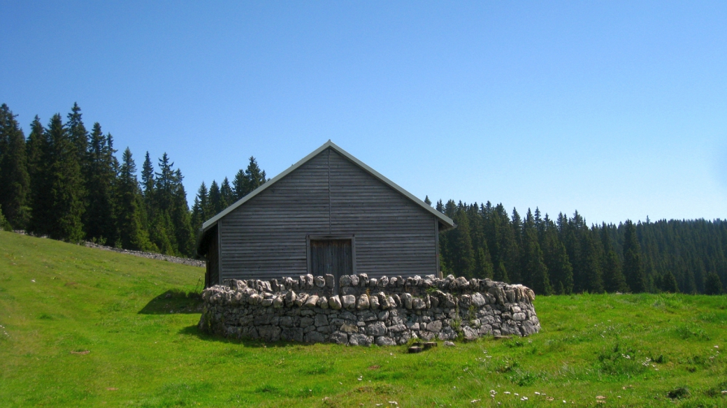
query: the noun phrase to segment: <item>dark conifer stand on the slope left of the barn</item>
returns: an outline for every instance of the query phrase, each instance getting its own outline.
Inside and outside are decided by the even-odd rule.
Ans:
[[[100,123],[87,130],[77,104],[65,122],[57,113],[44,126],[36,115],[27,139],[17,116],[1,105],[0,228],[193,256],[201,223],[260,184],[248,181],[248,174],[265,181],[251,158],[253,168],[238,172],[233,189],[227,179],[221,189],[213,181],[205,204],[196,201],[190,211],[182,171],[166,153],[155,167],[146,152],[138,179],[131,150],[121,160],[116,152]]]

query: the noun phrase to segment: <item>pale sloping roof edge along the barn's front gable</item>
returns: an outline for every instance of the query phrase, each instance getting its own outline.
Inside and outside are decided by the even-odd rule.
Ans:
[[[445,216],[443,213],[440,213],[439,211],[436,211],[434,208],[432,208],[431,205],[428,205],[422,200],[419,200],[419,198],[414,197],[410,192],[406,191],[405,189],[399,187],[397,184],[395,184],[390,179],[387,179],[385,176],[382,176],[382,174],[379,174],[378,171],[375,171],[373,168],[370,168],[369,166],[366,166],[366,163],[362,162],[361,160],[358,160],[357,158],[353,157],[349,152],[343,150],[342,148],[338,147],[334,142],[331,142],[330,140],[323,144],[323,146],[318,147],[318,149],[313,150],[313,152],[310,153],[310,155],[305,156],[305,158],[302,158],[298,163],[295,163],[293,166],[290,166],[289,168],[286,168],[281,174],[278,174],[277,176],[273,177],[273,179],[270,179],[265,184],[262,184],[260,187],[257,187],[257,189],[254,189],[252,192],[250,192],[245,197],[242,197],[240,200],[237,200],[235,203],[230,205],[228,208],[225,208],[220,213],[218,213],[216,216],[212,217],[211,219],[207,220],[202,224],[202,232],[206,232],[208,229],[214,227],[215,224],[217,224],[217,221],[219,221],[222,217],[228,215],[228,213],[234,211],[236,208],[238,208],[240,205],[243,205],[247,201],[251,200],[252,197],[255,197],[256,195],[260,194],[261,192],[265,191],[265,189],[268,189],[273,184],[276,184],[276,182],[288,174],[295,171],[300,166],[304,165],[308,162],[308,160],[316,157],[318,154],[323,152],[324,150],[331,148],[335,152],[339,153],[340,155],[344,156],[356,166],[363,168],[364,171],[371,174],[371,176],[374,176],[375,178],[379,179],[379,181],[382,181],[387,186],[395,189],[398,191],[401,195],[409,198],[409,200],[414,201],[417,205],[422,207],[425,211],[428,211],[432,213],[433,216],[435,216],[440,224],[442,225],[442,229],[449,229],[454,227],[454,221],[452,221],[448,216]]]

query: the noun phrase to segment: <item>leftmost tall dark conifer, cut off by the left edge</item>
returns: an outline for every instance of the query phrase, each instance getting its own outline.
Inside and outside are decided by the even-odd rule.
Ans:
[[[24,229],[30,218],[25,135],[7,105],[0,106],[0,205],[7,222]]]

